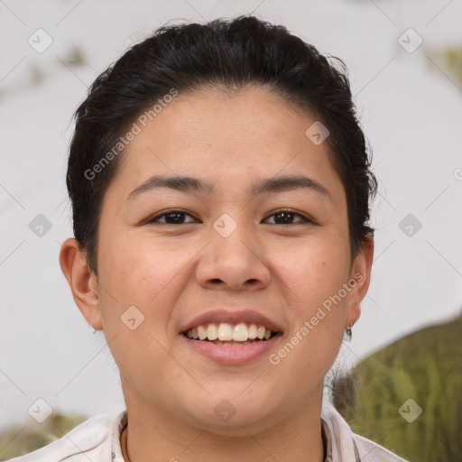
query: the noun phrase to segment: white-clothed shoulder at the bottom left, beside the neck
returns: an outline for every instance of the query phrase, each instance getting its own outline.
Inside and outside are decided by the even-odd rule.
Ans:
[[[100,414],[82,422],[62,438],[5,462],[110,462],[112,430],[120,416]]]

